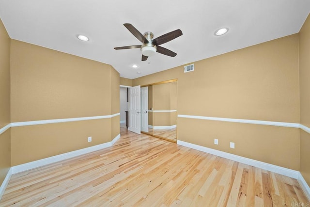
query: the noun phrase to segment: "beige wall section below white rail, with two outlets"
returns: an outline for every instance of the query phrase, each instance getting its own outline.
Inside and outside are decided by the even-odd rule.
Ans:
[[[214,138],[218,145],[214,145]],[[220,151],[299,169],[299,129],[178,118],[178,139]],[[235,148],[230,148],[230,142]]]

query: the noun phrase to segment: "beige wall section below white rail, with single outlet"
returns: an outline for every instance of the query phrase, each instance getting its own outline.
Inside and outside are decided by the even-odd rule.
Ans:
[[[88,142],[89,136],[92,142]],[[109,141],[109,118],[12,127],[11,163],[29,163]]]

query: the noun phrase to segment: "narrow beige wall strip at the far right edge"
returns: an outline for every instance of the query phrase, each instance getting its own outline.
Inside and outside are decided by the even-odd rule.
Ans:
[[[299,32],[300,123],[310,127],[310,16]],[[300,131],[300,172],[310,185],[310,134]]]

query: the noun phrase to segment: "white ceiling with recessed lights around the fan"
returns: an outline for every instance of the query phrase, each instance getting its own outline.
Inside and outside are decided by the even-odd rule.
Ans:
[[[12,39],[111,64],[131,79],[297,33],[309,12],[310,0],[0,0]],[[114,50],[140,44],[124,23],[154,38],[182,30],[161,45],[178,55],[142,62],[139,48]],[[223,27],[228,33],[215,36]]]

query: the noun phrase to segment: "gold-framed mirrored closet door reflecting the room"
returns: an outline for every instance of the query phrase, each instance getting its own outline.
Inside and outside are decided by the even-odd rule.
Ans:
[[[141,87],[141,132],[177,141],[177,80]]]

